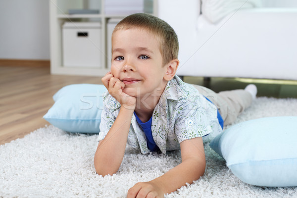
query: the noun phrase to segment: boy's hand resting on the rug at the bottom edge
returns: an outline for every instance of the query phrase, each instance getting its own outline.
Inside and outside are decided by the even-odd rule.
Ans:
[[[150,182],[140,182],[135,184],[128,191],[127,198],[163,198],[164,193],[160,187]]]

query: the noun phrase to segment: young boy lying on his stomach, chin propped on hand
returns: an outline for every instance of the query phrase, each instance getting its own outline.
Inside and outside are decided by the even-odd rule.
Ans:
[[[97,173],[117,172],[126,143],[143,154],[181,149],[182,156],[164,175],[129,189],[128,198],[162,198],[199,179],[205,170],[202,137],[221,133],[223,120],[234,121],[256,95],[252,85],[251,93],[215,94],[184,83],[175,75],[178,50],[174,30],[148,14],[127,16],[113,31],[111,71],[102,78],[108,93],[94,157]]]

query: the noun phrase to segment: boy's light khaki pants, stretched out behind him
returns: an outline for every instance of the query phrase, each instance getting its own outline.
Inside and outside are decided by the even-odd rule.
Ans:
[[[199,85],[193,86],[200,94],[205,96],[218,107],[218,110],[224,120],[224,126],[233,123],[237,116],[252,102],[250,93],[245,90],[231,90],[215,93],[206,87]]]

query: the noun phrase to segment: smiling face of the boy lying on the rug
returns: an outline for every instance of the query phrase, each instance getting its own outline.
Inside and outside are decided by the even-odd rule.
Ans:
[[[161,94],[167,84],[159,40],[138,28],[117,30],[112,36],[111,73],[125,83],[123,92],[134,97]]]

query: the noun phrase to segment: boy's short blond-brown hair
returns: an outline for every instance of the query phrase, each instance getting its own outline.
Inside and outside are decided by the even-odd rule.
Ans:
[[[178,58],[179,45],[177,35],[165,21],[146,13],[131,14],[121,20],[113,32],[130,28],[145,29],[159,38],[159,48],[163,58],[162,65]]]

